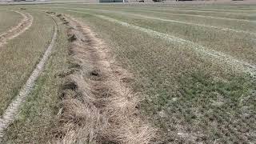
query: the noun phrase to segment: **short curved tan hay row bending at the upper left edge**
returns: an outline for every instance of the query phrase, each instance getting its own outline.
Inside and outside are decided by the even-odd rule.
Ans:
[[[10,30],[7,30],[3,34],[0,34],[0,47],[5,45],[8,40],[18,37],[20,34],[28,30],[30,26],[32,26],[33,16],[31,14],[25,14],[20,11],[14,12],[22,15],[22,21],[18,22],[17,26],[12,27]]]

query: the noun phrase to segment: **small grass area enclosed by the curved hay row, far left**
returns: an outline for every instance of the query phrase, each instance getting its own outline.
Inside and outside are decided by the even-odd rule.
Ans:
[[[0,10],[0,19],[4,19],[4,21],[0,22],[0,34],[2,34],[12,26],[18,25],[18,22],[22,20],[22,16],[13,11]]]

